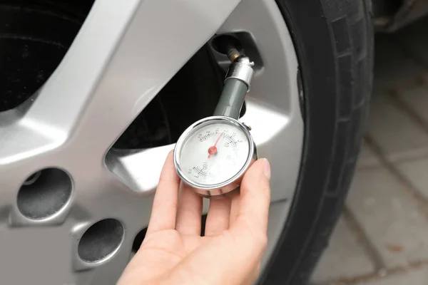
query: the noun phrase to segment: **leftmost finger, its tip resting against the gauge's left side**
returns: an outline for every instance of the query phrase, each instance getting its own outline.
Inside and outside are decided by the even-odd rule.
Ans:
[[[175,172],[173,152],[170,152],[163,165],[155,198],[153,199],[153,207],[147,229],[148,233],[164,229],[175,229],[179,185],[180,178]]]

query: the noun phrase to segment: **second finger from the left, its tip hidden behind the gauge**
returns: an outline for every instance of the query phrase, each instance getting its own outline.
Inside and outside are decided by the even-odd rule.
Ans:
[[[177,222],[175,229],[180,234],[200,235],[202,220],[202,197],[182,184],[178,199]]]

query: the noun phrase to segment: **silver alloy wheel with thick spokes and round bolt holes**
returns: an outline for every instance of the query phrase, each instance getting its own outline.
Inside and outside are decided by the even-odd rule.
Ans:
[[[275,1],[103,0],[41,90],[0,113],[2,281],[116,282],[148,224],[173,145],[111,145],[214,33],[235,31],[248,31],[263,58],[241,121],[272,164],[265,261],[270,257],[294,195],[303,140],[297,57]]]

